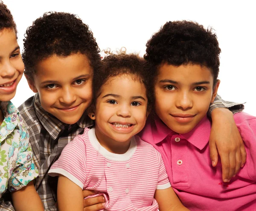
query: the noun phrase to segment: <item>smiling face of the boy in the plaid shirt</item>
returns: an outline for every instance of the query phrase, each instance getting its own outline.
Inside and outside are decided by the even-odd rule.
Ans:
[[[76,123],[92,100],[93,69],[87,56],[52,55],[35,68],[29,87],[38,92],[44,110],[66,124]]]

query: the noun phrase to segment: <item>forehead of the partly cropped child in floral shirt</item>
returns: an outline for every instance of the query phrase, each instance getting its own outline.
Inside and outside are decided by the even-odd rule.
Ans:
[[[12,52],[18,46],[14,29],[0,31],[0,56],[6,52]]]

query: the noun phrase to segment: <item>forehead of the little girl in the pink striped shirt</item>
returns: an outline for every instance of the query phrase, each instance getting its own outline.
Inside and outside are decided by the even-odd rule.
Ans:
[[[106,92],[123,97],[134,95],[146,96],[145,85],[134,75],[117,75],[109,78],[102,86],[101,95],[105,95]]]

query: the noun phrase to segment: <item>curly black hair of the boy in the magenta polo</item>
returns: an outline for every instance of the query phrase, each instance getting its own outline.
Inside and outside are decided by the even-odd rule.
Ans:
[[[167,63],[175,66],[201,64],[212,71],[214,84],[219,72],[219,54],[221,49],[212,28],[192,21],[169,21],[155,33],[146,44],[144,58],[152,63],[154,77],[157,76],[157,67]]]

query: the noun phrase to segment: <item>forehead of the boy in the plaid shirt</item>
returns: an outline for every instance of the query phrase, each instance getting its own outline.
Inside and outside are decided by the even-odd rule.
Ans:
[[[75,78],[77,75],[92,73],[89,59],[81,53],[65,57],[52,55],[36,65],[36,77]]]

